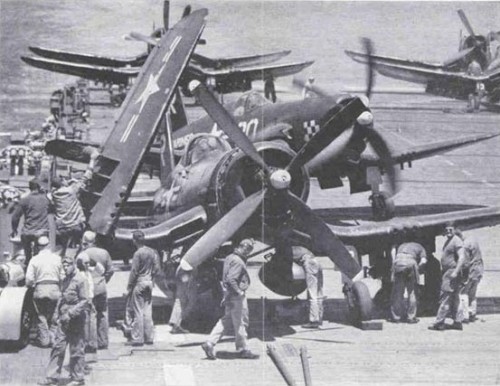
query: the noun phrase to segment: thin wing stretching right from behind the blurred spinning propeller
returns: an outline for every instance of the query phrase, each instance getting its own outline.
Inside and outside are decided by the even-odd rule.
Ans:
[[[434,155],[446,153],[463,146],[472,145],[490,138],[497,137],[500,134],[473,135],[463,138],[450,139],[434,142],[430,144],[412,146],[405,150],[391,151],[391,158],[394,164],[411,162],[422,158],[432,157]],[[363,166],[383,166],[376,155],[362,154],[361,164]]]

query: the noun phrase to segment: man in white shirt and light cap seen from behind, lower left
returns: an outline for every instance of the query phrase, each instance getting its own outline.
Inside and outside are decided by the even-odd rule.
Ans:
[[[40,252],[33,256],[26,271],[26,286],[34,288],[33,301],[37,316],[37,338],[40,347],[51,347],[56,333],[54,318],[61,297],[64,271],[61,256],[50,250],[49,238],[38,238]]]

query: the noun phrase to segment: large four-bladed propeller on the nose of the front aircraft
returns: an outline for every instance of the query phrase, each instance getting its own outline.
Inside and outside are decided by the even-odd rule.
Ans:
[[[286,168],[273,169],[266,164],[253,143],[241,132],[234,119],[204,85],[192,82],[190,89],[234,145],[263,169],[264,187],[243,199],[198,239],[184,255],[179,268],[190,270],[210,258],[217,248],[230,239],[262,205],[262,216],[266,225],[269,225],[270,217],[279,218],[279,224],[275,225],[282,230],[290,230],[289,227],[297,226],[309,233],[315,241],[315,252],[329,256],[347,277],[353,278],[360,270],[358,263],[323,220],[317,217],[301,199],[294,196],[289,188],[293,171],[304,167],[314,152],[323,150],[328,146],[328,141],[335,141],[356,121],[356,117],[367,110],[361,100],[352,98],[332,109],[325,119],[325,127],[320,131],[327,134],[322,134],[316,141],[307,142]]]

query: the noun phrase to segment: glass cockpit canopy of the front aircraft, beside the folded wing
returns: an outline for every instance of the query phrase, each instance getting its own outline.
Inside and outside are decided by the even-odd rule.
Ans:
[[[208,133],[198,134],[189,141],[180,162],[184,166],[192,165],[229,149],[231,146],[221,137]]]

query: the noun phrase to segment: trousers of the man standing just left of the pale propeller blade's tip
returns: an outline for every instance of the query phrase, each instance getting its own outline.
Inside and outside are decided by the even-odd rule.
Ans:
[[[132,343],[153,343],[153,282],[138,282],[132,291]]]

